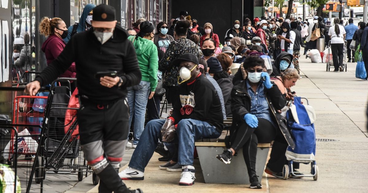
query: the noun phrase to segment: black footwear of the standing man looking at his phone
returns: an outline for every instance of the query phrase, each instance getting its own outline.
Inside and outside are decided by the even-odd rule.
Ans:
[[[128,189],[111,164],[107,165],[98,176],[100,177],[100,187],[102,185],[101,189],[99,187],[101,193],[111,193],[113,191],[114,193],[143,193],[141,189]]]

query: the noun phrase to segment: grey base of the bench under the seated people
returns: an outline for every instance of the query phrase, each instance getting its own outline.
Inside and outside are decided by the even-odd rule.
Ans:
[[[197,146],[199,162],[205,183],[250,184],[247,166],[243,158],[243,149],[231,159],[230,164],[224,164],[216,156],[224,151],[225,147]],[[256,173],[259,182],[268,157],[269,147],[258,147]]]

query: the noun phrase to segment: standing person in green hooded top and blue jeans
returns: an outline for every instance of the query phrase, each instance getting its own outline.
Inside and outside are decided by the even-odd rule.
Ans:
[[[128,87],[128,103],[130,110],[129,128],[134,115],[134,141],[132,147],[137,147],[144,129],[144,116],[148,99],[153,97],[157,86],[158,54],[152,38],[155,27],[149,21],[141,23],[137,36],[129,36],[137,53],[142,80],[137,86]]]

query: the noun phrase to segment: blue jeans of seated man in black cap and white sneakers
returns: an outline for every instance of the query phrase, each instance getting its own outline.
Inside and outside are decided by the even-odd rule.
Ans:
[[[144,172],[155,151],[158,139],[161,140],[161,127],[165,119],[155,119],[146,125],[141,141],[134,150],[129,167]],[[171,143],[178,143],[178,164],[193,165],[194,141],[201,138],[218,138],[221,132],[218,132],[215,126],[211,126],[207,122],[195,119],[182,119],[179,121],[177,129],[177,139]]]

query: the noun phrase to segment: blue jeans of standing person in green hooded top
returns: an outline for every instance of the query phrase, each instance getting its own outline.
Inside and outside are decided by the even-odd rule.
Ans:
[[[128,87],[128,103],[129,103],[129,128],[134,115],[134,141],[137,145],[144,129],[144,117],[146,114],[146,106],[149,95],[150,83],[141,81],[139,85]]]

